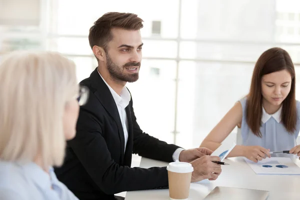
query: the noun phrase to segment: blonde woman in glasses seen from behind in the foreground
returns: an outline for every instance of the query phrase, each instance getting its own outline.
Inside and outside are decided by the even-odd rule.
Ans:
[[[0,80],[0,199],[78,199],[52,168],[62,164],[87,99],[74,63],[57,53],[13,52],[1,58]]]

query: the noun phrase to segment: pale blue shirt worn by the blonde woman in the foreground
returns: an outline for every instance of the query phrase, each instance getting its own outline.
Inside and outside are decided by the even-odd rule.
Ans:
[[[52,187],[52,188],[51,188]],[[50,167],[49,174],[34,162],[0,160],[1,200],[78,200]]]

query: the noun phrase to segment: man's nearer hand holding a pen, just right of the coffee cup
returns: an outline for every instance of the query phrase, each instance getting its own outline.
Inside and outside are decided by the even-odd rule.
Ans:
[[[208,178],[215,180],[221,173],[221,165],[212,161],[221,161],[218,156],[204,155],[192,162],[193,172],[191,174],[191,182],[197,182]]]

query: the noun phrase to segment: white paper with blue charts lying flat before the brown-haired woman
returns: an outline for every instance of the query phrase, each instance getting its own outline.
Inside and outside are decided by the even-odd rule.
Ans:
[[[267,157],[258,162],[244,159],[256,174],[300,175],[300,167],[289,157]]]

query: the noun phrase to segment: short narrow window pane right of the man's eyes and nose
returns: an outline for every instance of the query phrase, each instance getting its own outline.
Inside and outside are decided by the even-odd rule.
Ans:
[[[142,42],[144,43],[142,46],[143,57],[176,58],[177,55],[176,41],[143,39]]]

